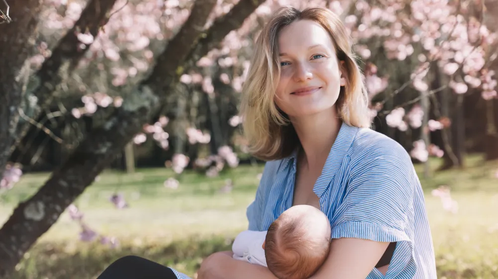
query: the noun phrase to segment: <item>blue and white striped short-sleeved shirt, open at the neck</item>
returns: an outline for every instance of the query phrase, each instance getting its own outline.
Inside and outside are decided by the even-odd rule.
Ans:
[[[265,164],[247,209],[250,230],[267,230],[292,206],[296,158],[294,152]],[[373,269],[367,279],[437,278],[424,194],[399,143],[343,123],[313,192],[329,217],[332,238],[397,242],[387,274]]]

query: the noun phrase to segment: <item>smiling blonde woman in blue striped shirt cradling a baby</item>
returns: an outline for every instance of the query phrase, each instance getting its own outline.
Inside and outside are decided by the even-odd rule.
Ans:
[[[249,229],[267,230],[285,209],[311,205],[332,227],[330,254],[313,278],[435,279],[420,182],[407,152],[368,129],[362,74],[340,19],[325,8],[279,9],[257,39],[244,87],[244,131],[252,154],[267,161]],[[169,274],[150,278],[186,278],[125,257],[99,279],[125,268],[141,277],[119,278],[149,278],[140,262]],[[275,277],[227,251],[205,259],[198,278]]]

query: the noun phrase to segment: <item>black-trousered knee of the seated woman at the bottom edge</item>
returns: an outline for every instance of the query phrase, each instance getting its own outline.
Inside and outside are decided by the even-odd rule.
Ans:
[[[177,279],[170,268],[137,256],[112,263],[97,279]]]

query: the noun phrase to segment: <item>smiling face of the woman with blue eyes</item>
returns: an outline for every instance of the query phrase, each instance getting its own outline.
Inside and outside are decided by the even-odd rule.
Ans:
[[[311,20],[295,21],[280,31],[278,46],[276,105],[291,119],[333,108],[346,79],[327,31]]]

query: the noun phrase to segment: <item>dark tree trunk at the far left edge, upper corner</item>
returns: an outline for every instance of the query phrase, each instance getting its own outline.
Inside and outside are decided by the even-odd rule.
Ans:
[[[21,92],[29,75],[32,41],[35,38],[40,11],[40,0],[8,1],[10,23],[0,31],[0,175],[10,155],[15,140],[15,127],[19,121],[17,108]],[[3,7],[3,3],[1,4]],[[4,10],[6,12],[6,10]]]

